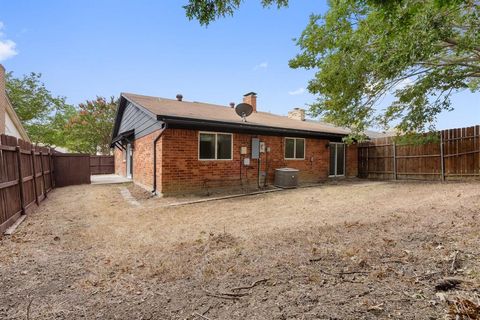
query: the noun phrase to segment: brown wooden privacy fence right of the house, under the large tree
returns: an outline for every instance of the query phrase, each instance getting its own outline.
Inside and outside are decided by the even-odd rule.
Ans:
[[[438,133],[438,142],[421,145],[377,138],[359,144],[358,161],[360,178],[480,178],[480,126],[443,130]]]

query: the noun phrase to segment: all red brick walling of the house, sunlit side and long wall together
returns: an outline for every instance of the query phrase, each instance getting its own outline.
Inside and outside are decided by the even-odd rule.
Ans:
[[[155,131],[134,143],[133,181],[149,191],[153,188],[153,140],[159,132]],[[244,157],[251,157],[251,139],[254,137],[270,147],[270,152],[260,154],[260,171],[268,170],[268,184],[273,184],[275,169],[283,167],[299,169],[301,183],[328,178],[328,140],[305,139],[305,160],[285,160],[284,137],[235,133],[233,160],[198,160],[198,131],[167,129],[157,142],[157,191],[168,194],[204,188],[256,187],[258,160],[251,159],[248,167],[241,164]],[[247,147],[246,155],[240,155],[241,147]],[[122,152],[116,149],[115,172],[125,176],[126,163],[123,159]],[[357,175],[356,145],[347,148],[346,173],[350,177]],[[263,177],[260,180],[263,184]]]

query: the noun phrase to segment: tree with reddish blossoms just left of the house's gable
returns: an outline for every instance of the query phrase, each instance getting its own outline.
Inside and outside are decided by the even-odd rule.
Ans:
[[[74,152],[110,154],[111,134],[117,103],[97,97],[78,106],[78,112],[67,126],[67,148]]]

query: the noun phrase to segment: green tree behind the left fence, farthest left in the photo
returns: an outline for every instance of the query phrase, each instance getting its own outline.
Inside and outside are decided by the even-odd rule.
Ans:
[[[64,97],[53,96],[40,73],[15,78],[10,72],[6,80],[7,95],[30,139],[48,146],[65,146],[64,127],[75,108]]]

